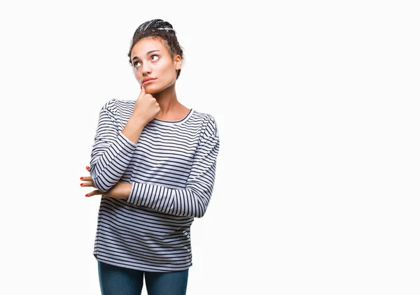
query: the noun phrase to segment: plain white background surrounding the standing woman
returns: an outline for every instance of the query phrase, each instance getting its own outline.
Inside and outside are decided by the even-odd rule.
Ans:
[[[154,18],[221,138],[188,294],[420,293],[416,1],[118,3],[1,4],[1,294],[100,294],[79,178]]]

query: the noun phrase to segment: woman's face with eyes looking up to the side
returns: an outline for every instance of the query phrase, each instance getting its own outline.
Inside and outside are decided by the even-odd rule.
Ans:
[[[147,93],[161,92],[174,84],[176,70],[181,69],[181,57],[172,60],[169,51],[160,38],[147,37],[138,41],[132,48],[132,66],[137,81]],[[149,82],[144,78],[153,78]]]

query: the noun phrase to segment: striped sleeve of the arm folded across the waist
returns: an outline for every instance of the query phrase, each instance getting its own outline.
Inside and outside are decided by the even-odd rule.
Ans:
[[[186,188],[132,182],[127,202],[171,215],[203,217],[213,192],[218,150],[218,129],[211,117],[195,152]]]

